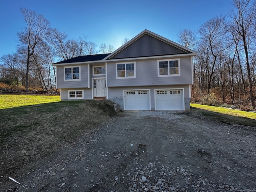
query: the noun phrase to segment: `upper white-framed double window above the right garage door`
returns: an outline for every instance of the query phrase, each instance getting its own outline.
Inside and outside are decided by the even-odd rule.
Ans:
[[[158,60],[158,77],[180,76],[180,59]]]

